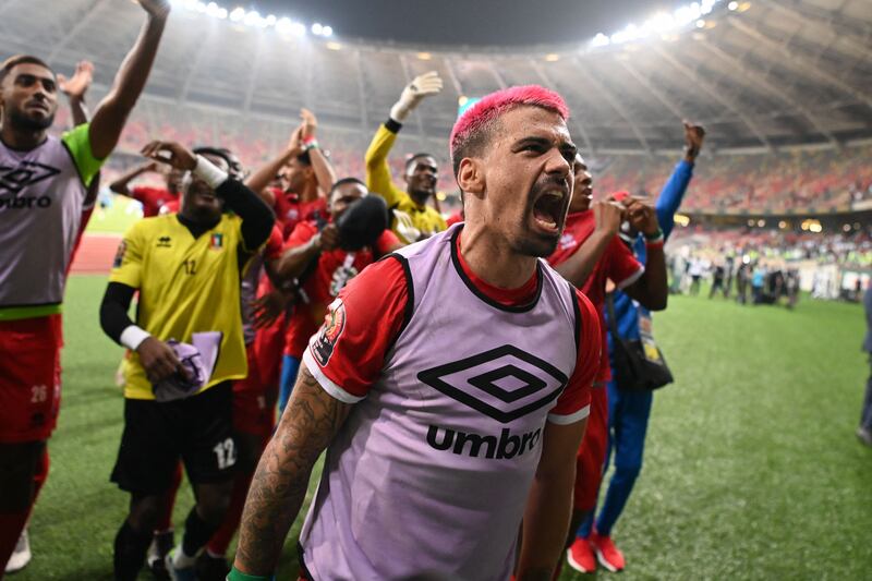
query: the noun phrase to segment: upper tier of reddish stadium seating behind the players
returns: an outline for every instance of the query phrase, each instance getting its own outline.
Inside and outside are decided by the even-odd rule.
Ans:
[[[64,117],[59,116],[59,126]],[[204,121],[205,122],[205,121]],[[121,152],[137,152],[137,145],[148,135],[168,135],[180,143],[210,143],[214,132],[199,121],[186,119],[167,121],[153,126],[142,119],[129,123],[122,135]],[[235,131],[227,128],[221,141],[246,167],[263,164],[278,144],[245,126]],[[330,135],[328,128],[325,135]],[[344,137],[344,133],[341,134]],[[278,138],[278,137],[277,137]],[[354,141],[365,140],[355,135]],[[275,140],[272,140],[275,141]],[[363,158],[360,149],[346,144],[344,138],[330,141],[331,162],[340,174],[362,174]],[[365,141],[361,147],[365,147]],[[398,144],[400,154],[411,154],[413,146]],[[720,154],[706,159],[706,165],[694,177],[685,211],[816,211],[846,208],[851,203],[872,197],[872,146],[859,145],[841,150],[796,150],[776,154],[731,155]],[[402,157],[391,159],[391,169],[400,171]],[[668,178],[670,159],[665,156],[595,156],[591,161],[597,180],[608,191],[628,190],[633,194],[656,193]],[[455,179],[447,165],[440,167],[438,189],[452,194],[457,191]]]

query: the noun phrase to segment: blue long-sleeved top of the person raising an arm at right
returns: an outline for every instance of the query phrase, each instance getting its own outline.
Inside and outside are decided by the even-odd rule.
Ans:
[[[685,197],[690,179],[693,177],[693,164],[681,160],[676,165],[673,174],[663,186],[661,195],[657,198],[655,210],[657,213],[657,221],[659,221],[661,230],[663,230],[664,238],[669,238],[675,227],[675,214],[681,205],[681,199]],[[640,263],[645,264],[647,258],[645,252],[645,241],[640,234],[633,242],[633,254]],[[640,312],[643,316],[651,316],[647,308],[640,305],[626,293],[615,291],[615,317],[618,322],[618,335],[626,339],[639,339],[639,315]],[[608,313],[606,313],[606,320],[608,320]],[[608,352],[611,353],[611,335],[608,334]]]

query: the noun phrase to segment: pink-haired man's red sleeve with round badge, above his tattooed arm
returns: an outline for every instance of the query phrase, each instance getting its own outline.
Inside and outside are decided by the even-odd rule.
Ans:
[[[370,265],[340,291],[303,353],[325,391],[346,403],[366,397],[400,332],[408,296],[405,273],[393,258]]]

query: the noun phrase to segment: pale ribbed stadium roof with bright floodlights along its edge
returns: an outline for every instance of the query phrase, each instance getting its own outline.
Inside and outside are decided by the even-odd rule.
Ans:
[[[141,23],[124,0],[5,0],[0,55],[33,52],[63,72],[87,58],[105,89]],[[275,119],[306,106],[326,124],[370,133],[410,78],[437,70],[446,89],[408,132],[447,140],[463,97],[540,83],[567,98],[588,153],[674,149],[682,118],[704,123],[720,149],[872,137],[868,0],[724,0],[687,26],[639,31],[523,48],[424,46],[282,34],[177,9],[147,92]]]

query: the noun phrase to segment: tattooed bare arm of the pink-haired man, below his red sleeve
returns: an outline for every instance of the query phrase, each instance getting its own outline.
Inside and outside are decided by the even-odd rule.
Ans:
[[[303,505],[312,467],[348,416],[350,406],[329,396],[305,364],[291,400],[254,474],[240,523],[235,567],[270,576]]]

